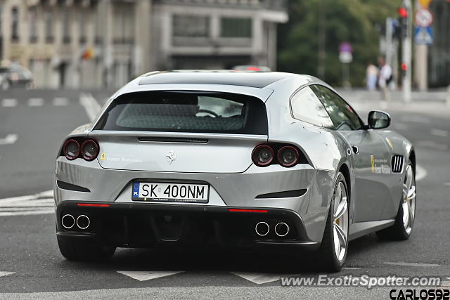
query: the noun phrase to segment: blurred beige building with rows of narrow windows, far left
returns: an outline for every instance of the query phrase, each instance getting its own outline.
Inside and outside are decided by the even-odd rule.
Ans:
[[[121,86],[148,70],[149,16],[147,0],[0,0],[1,59],[40,88]]]

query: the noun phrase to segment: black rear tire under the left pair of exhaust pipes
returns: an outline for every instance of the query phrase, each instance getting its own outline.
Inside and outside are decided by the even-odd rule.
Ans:
[[[58,247],[61,254],[70,261],[108,261],[115,252],[115,247],[102,247],[78,240],[58,239]]]

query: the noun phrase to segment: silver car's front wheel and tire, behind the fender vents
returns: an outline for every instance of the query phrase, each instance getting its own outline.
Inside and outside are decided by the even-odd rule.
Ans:
[[[404,188],[394,225],[378,230],[376,235],[382,240],[408,240],[416,219],[416,174],[411,163],[406,166]],[[411,179],[411,184],[409,183]],[[405,208],[406,205],[406,208]],[[406,214],[408,216],[406,217]],[[411,218],[412,216],[412,218]],[[404,219],[408,219],[408,223]]]

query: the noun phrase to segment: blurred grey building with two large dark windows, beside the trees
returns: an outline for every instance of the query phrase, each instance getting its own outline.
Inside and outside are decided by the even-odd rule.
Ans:
[[[151,65],[158,69],[276,68],[284,0],[155,0]]]

